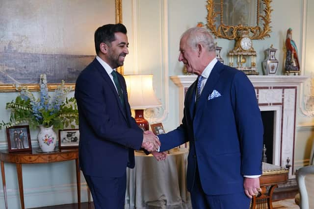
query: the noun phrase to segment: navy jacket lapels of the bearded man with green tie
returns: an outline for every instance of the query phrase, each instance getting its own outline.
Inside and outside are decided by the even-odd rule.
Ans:
[[[125,117],[125,119],[127,120],[127,116],[126,116],[126,112],[125,112],[125,109],[122,107],[122,104],[120,102],[120,98],[119,98],[119,94],[117,93],[117,90],[111,80],[111,78],[109,77],[108,73],[105,71],[104,67],[97,61],[97,59],[94,59],[93,61],[95,63],[95,66],[97,68],[97,70],[99,71],[99,73],[102,75],[102,77],[105,79],[105,82],[108,84],[110,90],[113,92],[114,94],[114,97],[116,99],[116,102],[119,106],[119,109],[121,110],[122,112],[122,115]],[[120,76],[118,76],[119,78]],[[120,85],[122,84],[121,83],[121,79],[119,78],[119,82],[120,82]],[[122,86],[122,85],[121,85]],[[124,90],[123,87],[122,88],[122,91],[123,91],[123,96],[125,96],[125,92],[126,90]],[[124,101],[126,101],[125,97],[124,97]],[[128,121],[128,120],[127,120]]]

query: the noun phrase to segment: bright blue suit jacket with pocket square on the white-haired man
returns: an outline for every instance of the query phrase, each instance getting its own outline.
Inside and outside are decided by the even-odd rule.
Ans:
[[[243,175],[262,174],[263,126],[255,90],[247,76],[217,62],[195,106],[197,81],[187,90],[182,124],[158,135],[160,151],[189,141],[187,188],[198,166],[208,195],[243,191]],[[216,90],[221,96],[208,99]]]

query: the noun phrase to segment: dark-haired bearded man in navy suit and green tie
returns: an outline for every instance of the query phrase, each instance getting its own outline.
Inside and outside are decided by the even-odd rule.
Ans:
[[[126,167],[134,167],[134,149],[154,151],[160,146],[131,117],[125,80],[115,70],[123,65],[128,46],[123,24],[99,27],[95,32],[97,56],[76,82],[79,163],[95,209],[124,209]]]

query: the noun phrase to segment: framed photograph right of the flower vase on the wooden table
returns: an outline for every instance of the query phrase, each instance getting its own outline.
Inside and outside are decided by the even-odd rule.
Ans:
[[[59,130],[59,149],[76,148],[79,142],[78,129]]]

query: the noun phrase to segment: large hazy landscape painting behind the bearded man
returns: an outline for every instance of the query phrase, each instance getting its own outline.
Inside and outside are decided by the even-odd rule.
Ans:
[[[43,73],[74,84],[95,58],[95,30],[116,15],[121,0],[1,0],[0,91],[35,88]]]

